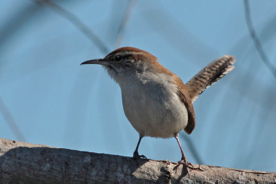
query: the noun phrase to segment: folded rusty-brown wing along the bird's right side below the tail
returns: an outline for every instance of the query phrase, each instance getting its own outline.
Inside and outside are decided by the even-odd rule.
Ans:
[[[175,75],[175,81],[177,81],[177,86],[180,86],[178,89],[177,95],[179,96],[179,99],[181,100],[181,102],[184,103],[184,105],[186,106],[186,109],[188,112],[188,124],[184,128],[184,130],[187,134],[190,134],[193,132],[195,128],[195,110],[184,83],[176,75]]]

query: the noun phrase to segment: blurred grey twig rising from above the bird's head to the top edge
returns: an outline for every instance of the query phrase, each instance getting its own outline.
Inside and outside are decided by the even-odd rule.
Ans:
[[[126,6],[126,10],[124,12],[123,19],[121,19],[121,23],[119,25],[117,34],[116,34],[116,40],[115,40],[115,47],[119,48],[121,43],[123,42],[124,39],[124,30],[126,28],[126,24],[128,23],[128,20],[130,19],[130,15],[132,14],[135,4],[137,0],[129,0],[128,1],[128,6]]]

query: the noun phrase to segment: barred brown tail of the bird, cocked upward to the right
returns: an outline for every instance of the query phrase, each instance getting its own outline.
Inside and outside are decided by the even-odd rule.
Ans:
[[[228,74],[228,72],[233,70],[235,68],[235,66],[233,66],[235,61],[235,57],[230,55],[221,57],[198,72],[193,79],[190,79],[190,81],[186,83],[186,88],[192,102],[194,102],[199,94],[204,92],[206,88],[213,85],[223,76]]]

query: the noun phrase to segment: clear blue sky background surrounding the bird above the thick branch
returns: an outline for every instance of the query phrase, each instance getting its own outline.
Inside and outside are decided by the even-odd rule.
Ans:
[[[132,156],[139,136],[124,115],[119,85],[101,66],[79,64],[132,46],[154,54],[186,83],[210,61],[231,54],[236,68],[195,101],[197,125],[190,136],[181,132],[182,147],[191,163],[276,172],[276,75],[250,37],[245,1],[53,2],[63,9],[0,2],[1,138]],[[249,7],[276,67],[276,2],[252,0]],[[14,134],[11,122],[23,136]],[[175,139],[144,138],[139,153],[181,158]]]

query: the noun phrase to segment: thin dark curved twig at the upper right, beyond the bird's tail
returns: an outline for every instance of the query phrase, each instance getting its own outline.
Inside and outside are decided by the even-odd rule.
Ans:
[[[246,24],[248,26],[250,36],[255,43],[255,47],[256,47],[257,51],[259,52],[259,55],[261,56],[262,61],[264,61],[264,63],[266,64],[266,67],[276,77],[276,68],[274,68],[273,64],[269,61],[268,57],[266,56],[266,53],[264,52],[264,49],[262,48],[261,42],[259,41],[259,38],[257,37],[257,35],[255,33],[255,29],[253,27],[253,23],[252,23],[251,16],[250,16],[250,8],[249,8],[248,0],[244,0],[244,10],[245,10],[244,12],[245,12],[245,16],[246,16]]]

